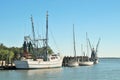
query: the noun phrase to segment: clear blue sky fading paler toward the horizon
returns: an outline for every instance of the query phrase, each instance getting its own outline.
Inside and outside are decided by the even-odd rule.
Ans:
[[[120,57],[120,0],[0,0],[0,43],[21,47],[24,36],[45,35],[49,14],[49,45],[54,52],[73,56],[73,24],[76,54],[87,52],[86,32],[99,57]],[[90,56],[89,53],[86,53]]]

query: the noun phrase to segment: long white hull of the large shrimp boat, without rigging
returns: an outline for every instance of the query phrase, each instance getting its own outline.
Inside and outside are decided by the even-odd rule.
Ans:
[[[33,60],[18,60],[14,61],[17,69],[43,69],[43,68],[55,68],[62,66],[62,60],[57,61],[33,61]]]

